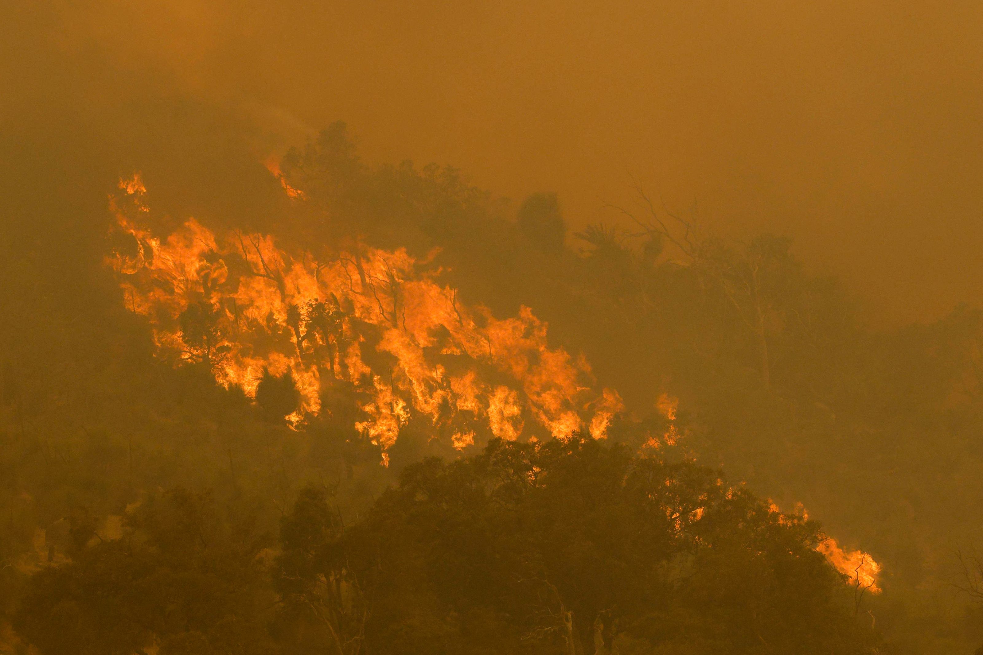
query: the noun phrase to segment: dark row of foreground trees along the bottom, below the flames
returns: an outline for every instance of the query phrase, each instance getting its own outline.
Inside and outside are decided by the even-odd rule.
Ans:
[[[346,524],[308,486],[263,532],[245,499],[148,495],[35,573],[44,653],[872,652],[814,521],[714,470],[591,438],[410,464]],[[87,543],[91,540],[93,543]]]

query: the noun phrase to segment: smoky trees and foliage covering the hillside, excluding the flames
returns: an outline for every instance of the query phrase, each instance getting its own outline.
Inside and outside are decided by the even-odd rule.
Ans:
[[[493,457],[406,468],[430,455],[452,455],[434,453],[426,430],[410,425],[383,469],[377,447],[355,429],[359,399],[343,384],[328,389],[321,417],[300,430],[282,420],[296,408],[288,381],[263,380],[257,402],[216,386],[207,369],[222,354],[210,346],[215,335],[206,307],[181,319],[185,359],[155,359],[146,325],[128,310],[132,299],[101,264],[110,246],[100,239],[112,180],[87,180],[90,192],[82,199],[54,183],[25,195],[23,189],[36,187],[31,176],[47,166],[42,160],[24,171],[8,166],[3,182],[9,191],[3,216],[11,220],[0,221],[0,624],[16,615],[25,638],[45,652],[95,652],[100,639],[100,652],[122,652],[146,646],[150,632],[161,649],[166,637],[173,652],[209,652],[233,648],[235,634],[254,634],[238,621],[261,628],[249,647],[290,644],[294,652],[335,647],[328,625],[347,626],[337,632],[346,648],[562,650],[564,630],[575,630],[584,643],[579,625],[585,622],[577,617],[594,612],[602,633],[613,632],[617,618],[622,653],[721,652],[764,643],[781,652],[803,635],[820,634],[819,627],[831,636],[820,635],[817,643],[841,652],[847,647],[835,639],[856,636],[842,612],[854,610],[884,629],[885,651],[968,651],[983,640],[972,627],[978,614],[955,621],[958,612],[937,600],[950,544],[983,523],[979,309],[962,306],[937,322],[874,329],[860,318],[863,307],[836,280],[808,273],[786,240],[715,239],[665,211],[648,213],[652,205],[644,200],[635,212],[644,217],[639,222],[629,219],[618,231],[599,225],[568,238],[558,203],[537,196],[529,206],[538,209],[523,215],[552,227],[534,238],[539,228],[523,228],[528,220],[520,221],[518,210],[474,189],[457,171],[370,165],[342,125],[282,162],[286,181],[304,191],[304,201],[280,197],[276,181],[244,158],[229,163],[230,170],[266,187],[239,183],[249,189],[237,189],[229,182],[222,201],[205,202],[215,195],[208,188],[170,203],[194,209],[205,222],[246,221],[250,229],[321,248],[318,256],[358,252],[360,244],[406,247],[432,256],[464,302],[485,303],[497,315],[535,307],[552,338],[586,355],[600,382],[624,398],[628,410],[611,425],[611,441],[634,452],[645,433],[665,430],[655,405],[668,391],[679,398],[680,450],[713,469],[723,465],[782,507],[802,502],[832,533],[857,540],[884,562],[890,572],[884,595],[862,608],[848,599],[843,610],[843,589],[827,579],[832,573],[817,557],[783,554],[785,546],[804,553],[815,528],[776,524],[778,517],[762,513],[745,492],[714,497],[716,514],[705,509],[684,530],[690,536],[680,537],[659,527],[655,513],[645,515],[650,522],[639,519],[627,496],[630,475],[617,483],[606,477],[641,468],[625,453],[602,449],[591,460],[586,451],[557,451],[549,460],[549,449],[568,445],[501,445]],[[205,173],[217,168],[202,166]],[[275,201],[263,199],[267,191]],[[230,198],[249,201],[222,203]],[[221,210],[233,205],[236,211]],[[317,330],[323,348],[343,347],[337,326],[350,319],[344,307],[324,299],[308,315],[316,319],[311,325],[298,323],[293,334],[277,338],[297,341]],[[711,494],[717,488],[700,478],[707,469],[679,464],[676,455],[665,453],[653,479],[693,475],[682,489]],[[596,468],[574,465],[588,462]],[[551,470],[553,481],[523,478],[530,465]],[[399,486],[366,517],[404,468]],[[441,486],[452,481],[462,485],[454,493]],[[250,558],[267,546],[255,551],[252,541],[233,538],[241,523],[233,514],[249,505],[256,520],[249,534],[275,535],[311,484],[325,495],[323,506],[315,496],[298,506],[307,509],[297,515],[306,517],[297,535],[310,536],[283,536],[280,559],[263,568]],[[408,495],[414,484],[442,505]],[[199,500],[182,506],[178,489]],[[211,500],[203,489],[211,490]],[[145,505],[126,509],[141,499]],[[196,512],[215,534],[206,547],[166,536],[187,535]],[[126,518],[126,539],[112,536],[119,517]],[[447,530],[460,543],[414,527],[407,517]],[[651,543],[641,543],[630,525],[649,530]],[[415,546],[386,546],[384,526]],[[503,526],[514,529],[511,536]],[[640,544],[638,552],[661,568],[621,549],[610,535]],[[713,547],[700,546],[697,536]],[[274,537],[268,543],[276,547]],[[496,552],[508,557],[498,561]],[[179,562],[182,557],[187,561]],[[163,562],[174,575],[210,580],[201,584],[210,589],[215,613],[163,626],[150,616],[163,605],[131,602],[126,594],[133,586],[155,589],[154,602],[185,608],[176,617],[197,607],[195,598],[163,582],[151,585],[148,572]],[[403,577],[378,581],[382,562]],[[293,572],[284,574],[297,577],[297,586],[277,577],[276,567]],[[657,571],[625,573],[631,567],[645,575]],[[551,588],[536,581],[547,574]],[[636,577],[658,582],[645,586],[652,594],[643,594],[645,602],[655,603],[649,609],[629,602],[641,593]],[[239,594],[228,591],[237,585]],[[590,593],[580,593],[582,587]],[[246,597],[273,607],[257,609]],[[360,623],[368,607],[372,612]],[[120,620],[110,626],[107,617],[117,612]],[[227,617],[232,623],[222,623]],[[218,636],[223,629],[229,636]],[[0,625],[0,640],[6,634]]]

